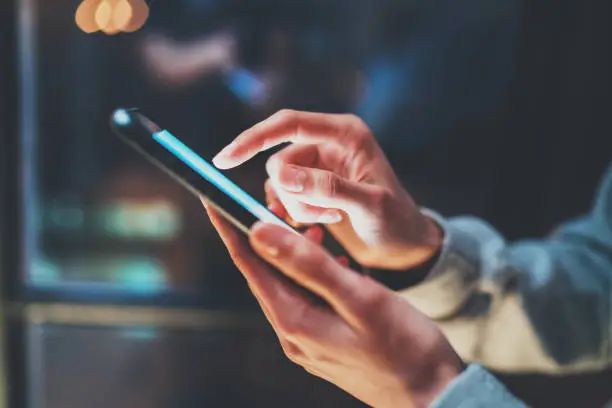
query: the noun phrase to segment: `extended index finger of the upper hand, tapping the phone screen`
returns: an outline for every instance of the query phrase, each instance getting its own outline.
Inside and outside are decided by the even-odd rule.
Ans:
[[[351,121],[348,115],[328,115],[312,112],[283,110],[239,135],[214,159],[215,166],[229,169],[249,160],[257,153],[282,143],[342,144],[348,137]]]

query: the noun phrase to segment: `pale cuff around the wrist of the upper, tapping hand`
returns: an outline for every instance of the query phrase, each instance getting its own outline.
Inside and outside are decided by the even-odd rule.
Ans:
[[[442,252],[423,283],[399,293],[430,318],[441,319],[456,313],[478,284],[476,256],[469,255],[478,250],[472,248],[469,235],[443,217],[430,210],[422,212],[444,231]]]

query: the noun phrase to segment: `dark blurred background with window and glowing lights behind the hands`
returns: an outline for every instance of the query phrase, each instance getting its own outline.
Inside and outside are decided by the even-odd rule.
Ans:
[[[109,131],[211,158],[282,108],[353,112],[416,199],[540,237],[612,154],[610,2],[3,0],[5,406],[359,407],[286,361],[197,199]],[[230,172],[263,199],[265,156]],[[503,376],[601,406],[610,373]]]

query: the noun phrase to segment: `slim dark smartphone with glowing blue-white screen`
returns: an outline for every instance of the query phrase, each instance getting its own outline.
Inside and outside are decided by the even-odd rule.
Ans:
[[[111,116],[111,127],[125,143],[150,162],[204,198],[223,217],[245,234],[257,221],[276,224],[299,234],[250,194],[236,185],[211,163],[186,146],[166,129],[162,129],[137,108],[117,109]],[[350,266],[360,266],[328,233],[323,245],[334,255],[343,255]]]

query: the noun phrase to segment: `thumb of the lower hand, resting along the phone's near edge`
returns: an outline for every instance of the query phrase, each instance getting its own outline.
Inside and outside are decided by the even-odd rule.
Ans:
[[[255,251],[299,285],[322,297],[344,320],[360,324],[381,290],[342,267],[319,245],[278,226],[258,223],[251,232]]]

